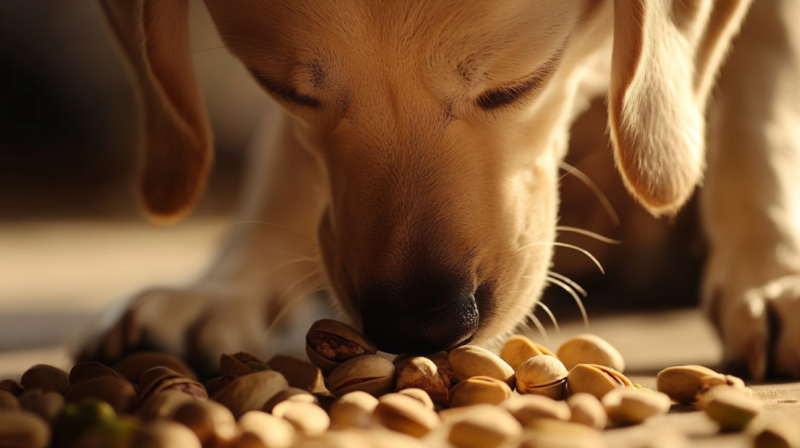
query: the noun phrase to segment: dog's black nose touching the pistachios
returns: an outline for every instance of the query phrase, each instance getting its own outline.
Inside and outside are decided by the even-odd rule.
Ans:
[[[362,296],[364,333],[388,353],[434,353],[469,341],[478,330],[471,282],[413,282],[371,288]]]

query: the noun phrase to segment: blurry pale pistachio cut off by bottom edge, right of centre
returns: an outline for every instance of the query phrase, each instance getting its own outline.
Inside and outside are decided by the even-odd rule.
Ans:
[[[602,448],[606,446],[600,431],[577,423],[552,419],[532,422],[519,448]]]

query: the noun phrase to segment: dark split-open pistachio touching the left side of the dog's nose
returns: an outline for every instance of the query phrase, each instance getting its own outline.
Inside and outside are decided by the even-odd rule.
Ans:
[[[308,359],[325,375],[345,361],[375,353],[378,353],[378,349],[364,335],[336,320],[318,320],[306,335]]]

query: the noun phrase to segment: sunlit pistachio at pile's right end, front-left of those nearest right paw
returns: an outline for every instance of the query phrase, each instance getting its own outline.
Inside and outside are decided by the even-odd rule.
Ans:
[[[614,389],[602,401],[608,417],[620,425],[635,425],[666,414],[672,404],[666,394],[643,389]]]

